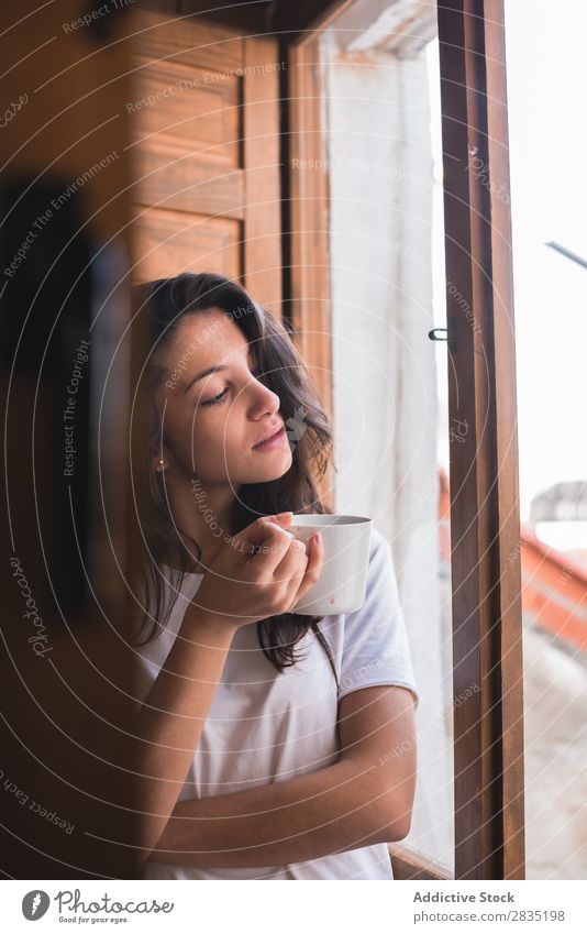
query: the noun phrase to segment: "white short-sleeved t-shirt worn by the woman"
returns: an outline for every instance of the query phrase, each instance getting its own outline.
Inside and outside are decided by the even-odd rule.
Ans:
[[[166,628],[136,646],[137,701],[145,700],[201,574],[186,575]],[[151,624],[152,625],[152,624]],[[232,640],[200,743],[178,801],[243,791],[324,769],[339,758],[337,702],[373,684],[399,684],[419,702],[388,541],[372,530],[365,603],[319,624],[328,656],[311,630],[296,650],[302,661],[281,673],[261,649],[256,623]],[[142,630],[141,638],[145,630]],[[195,847],[196,848],[196,847]],[[286,866],[210,868],[147,861],[144,879],[392,879],[386,844]]]

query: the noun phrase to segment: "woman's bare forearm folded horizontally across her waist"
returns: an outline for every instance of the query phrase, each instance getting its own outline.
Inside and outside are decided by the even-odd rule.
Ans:
[[[390,833],[384,798],[372,769],[341,759],[288,781],[181,801],[149,860],[248,868],[369,846]]]

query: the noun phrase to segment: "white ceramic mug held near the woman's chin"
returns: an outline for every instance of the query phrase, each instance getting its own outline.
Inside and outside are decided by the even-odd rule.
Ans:
[[[363,516],[332,516],[319,513],[294,514],[287,530],[298,541],[308,542],[319,531],[323,561],[320,578],[303,595],[292,613],[329,616],[353,613],[365,602],[373,519]]]

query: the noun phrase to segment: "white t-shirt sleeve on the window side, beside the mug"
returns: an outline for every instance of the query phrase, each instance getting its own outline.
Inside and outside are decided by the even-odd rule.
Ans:
[[[387,539],[372,529],[365,602],[344,622],[339,700],[361,688],[397,684],[419,703],[419,690]]]

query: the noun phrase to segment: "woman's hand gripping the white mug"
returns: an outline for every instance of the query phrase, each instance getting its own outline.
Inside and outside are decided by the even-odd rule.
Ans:
[[[284,528],[291,518],[261,516],[223,543],[192,600],[196,617],[237,629],[300,602],[320,576],[322,540],[312,537],[307,553]]]

